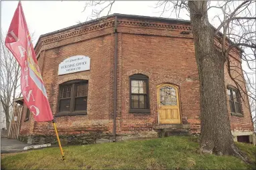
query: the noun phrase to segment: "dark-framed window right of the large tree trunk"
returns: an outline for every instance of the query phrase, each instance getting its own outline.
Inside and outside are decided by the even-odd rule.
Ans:
[[[241,99],[240,99],[239,91],[237,91],[237,89],[229,85],[228,95],[229,95],[229,107],[231,109],[231,115],[242,115]]]

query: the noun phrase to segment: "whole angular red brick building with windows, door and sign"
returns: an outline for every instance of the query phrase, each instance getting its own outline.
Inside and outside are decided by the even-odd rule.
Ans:
[[[189,21],[114,14],[41,35],[35,51],[62,141],[100,143],[200,133]],[[238,67],[240,53],[234,49],[230,55]],[[225,73],[234,139],[252,142],[248,98],[235,97],[235,83],[227,69]],[[245,83],[241,87],[245,89]],[[35,122],[26,106],[19,139],[56,142],[52,123]]]

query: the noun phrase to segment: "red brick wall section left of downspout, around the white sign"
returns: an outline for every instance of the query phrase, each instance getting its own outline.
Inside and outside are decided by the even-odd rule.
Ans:
[[[88,111],[87,115],[55,117],[58,131],[64,133],[86,133],[88,131],[109,131],[110,113],[113,112],[113,51],[114,36],[106,35],[46,50],[40,55],[39,65],[48,92],[52,113],[58,112],[58,89],[61,83],[73,79],[88,80]],[[41,54],[42,54],[41,53]],[[82,71],[58,76],[58,64],[67,57],[86,55],[90,57],[90,71]],[[44,63],[42,64],[42,62]],[[43,67],[44,65],[44,67]],[[35,123],[31,134],[54,133],[52,123]],[[21,129],[27,125],[23,124]],[[112,127],[112,126],[111,126]],[[23,131],[21,131],[21,134]]]

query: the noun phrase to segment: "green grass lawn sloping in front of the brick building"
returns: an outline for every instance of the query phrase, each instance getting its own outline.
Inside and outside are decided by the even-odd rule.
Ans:
[[[58,147],[1,157],[2,169],[256,169],[231,156],[200,155],[196,137]],[[255,162],[256,147],[237,146]],[[254,166],[254,167],[253,167]]]

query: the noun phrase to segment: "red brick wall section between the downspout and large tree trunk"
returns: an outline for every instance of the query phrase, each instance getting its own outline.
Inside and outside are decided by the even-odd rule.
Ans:
[[[199,83],[192,39],[121,33],[118,57],[119,133],[139,133],[158,124],[157,85],[162,83],[178,85],[182,121],[187,120],[193,132],[199,128]],[[129,113],[129,76],[134,73],[149,77],[150,114]]]

